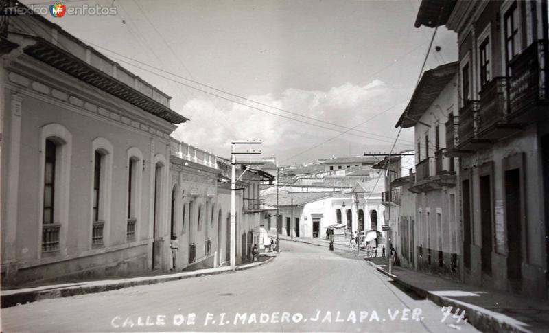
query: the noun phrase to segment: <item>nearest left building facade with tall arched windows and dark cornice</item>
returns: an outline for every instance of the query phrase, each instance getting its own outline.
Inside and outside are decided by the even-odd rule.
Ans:
[[[36,15],[2,36],[4,285],[167,268],[170,97]]]

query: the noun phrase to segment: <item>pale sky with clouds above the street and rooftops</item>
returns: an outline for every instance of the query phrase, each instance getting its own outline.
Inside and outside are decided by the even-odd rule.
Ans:
[[[261,140],[281,164],[390,152],[434,32],[414,27],[418,0],[63,3],[117,8],[47,19],[172,96],[190,119],[172,137],[223,157]],[[439,28],[425,70],[456,58],[456,34]]]

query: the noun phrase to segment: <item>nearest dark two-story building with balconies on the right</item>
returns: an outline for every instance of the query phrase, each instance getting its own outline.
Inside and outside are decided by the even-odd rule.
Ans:
[[[467,282],[547,297],[548,1],[431,1],[416,27],[458,36],[447,156],[459,157]]]

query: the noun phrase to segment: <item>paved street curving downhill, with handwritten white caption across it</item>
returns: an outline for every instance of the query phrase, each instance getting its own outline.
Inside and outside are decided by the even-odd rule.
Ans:
[[[5,308],[2,330],[474,330],[452,315],[441,322],[439,306],[407,295],[364,260],[308,244],[283,242],[281,247],[273,262],[248,271]]]

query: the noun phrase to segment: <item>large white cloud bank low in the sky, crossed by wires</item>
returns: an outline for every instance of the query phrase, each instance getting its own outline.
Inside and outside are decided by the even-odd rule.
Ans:
[[[272,93],[252,95],[248,99],[296,114],[285,113],[249,101],[244,102],[249,106],[263,110],[259,111],[242,104],[204,96],[189,100],[183,106],[182,114],[189,117],[191,121],[178,126],[172,136],[222,156],[229,156],[231,140],[261,139],[264,143],[264,154],[277,154],[279,160],[282,160],[293,152],[318,145],[318,143],[340,133],[327,128],[345,130],[345,128],[317,122],[306,117],[353,127],[393,106],[390,105],[391,103],[395,103],[394,93],[380,80],[373,80],[364,86],[347,82],[337,87],[331,87],[327,91],[289,88],[280,95]],[[395,109],[395,111],[399,113],[401,110]],[[306,117],[300,117],[300,115]],[[388,136],[387,130],[379,130],[379,128],[393,128],[396,122],[395,117],[397,117],[395,113],[390,119],[377,117],[359,128]],[[294,119],[299,119],[299,121]],[[314,123],[325,128],[305,123]],[[344,143],[345,152],[350,150],[347,149],[347,146],[353,144],[361,148],[365,144],[379,146],[390,143],[390,139],[387,137],[358,134],[378,140],[345,134],[331,142],[332,144],[329,146],[332,151],[323,151],[319,148],[316,150],[316,155],[318,158],[328,157],[331,154],[342,155],[341,150],[333,151],[334,148],[337,150],[337,147],[334,147],[334,142]],[[314,155],[308,154],[307,156]]]

